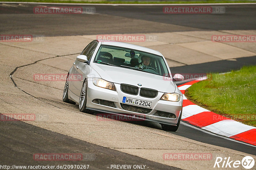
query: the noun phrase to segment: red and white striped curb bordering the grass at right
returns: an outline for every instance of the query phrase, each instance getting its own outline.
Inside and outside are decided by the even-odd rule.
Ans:
[[[213,113],[192,103],[184,96],[185,90],[192,84],[205,79],[206,77],[203,77],[178,86],[183,94],[181,119],[201,129],[256,146],[256,127]]]

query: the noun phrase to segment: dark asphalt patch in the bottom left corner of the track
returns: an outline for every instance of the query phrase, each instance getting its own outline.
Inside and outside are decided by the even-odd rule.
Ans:
[[[145,169],[151,170],[179,169],[84,142],[21,121],[0,121],[0,129],[1,165],[90,165],[89,169],[97,170],[110,169],[108,168],[110,165],[146,165]],[[95,156],[95,160],[36,161],[33,159],[35,153],[91,154]]]

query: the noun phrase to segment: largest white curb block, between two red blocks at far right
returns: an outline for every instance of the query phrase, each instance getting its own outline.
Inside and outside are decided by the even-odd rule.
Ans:
[[[242,124],[240,122],[236,122],[235,120],[222,120],[220,122],[202,127],[202,129],[217,133],[219,135],[231,137],[251,129],[256,129],[256,127]]]

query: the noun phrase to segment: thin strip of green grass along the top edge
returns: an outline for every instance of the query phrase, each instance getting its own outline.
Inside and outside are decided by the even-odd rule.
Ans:
[[[2,2],[82,3],[82,4],[199,4],[199,3],[256,3],[256,0],[206,0],[206,1],[101,1],[101,0],[1,0]]]

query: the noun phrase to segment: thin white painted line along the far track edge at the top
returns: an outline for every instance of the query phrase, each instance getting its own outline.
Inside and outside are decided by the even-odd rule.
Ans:
[[[105,6],[188,6],[188,5],[250,5],[256,3],[205,3],[205,4],[83,4],[83,3],[40,3],[40,2],[0,2],[9,4],[59,4],[59,5],[105,5]]]

